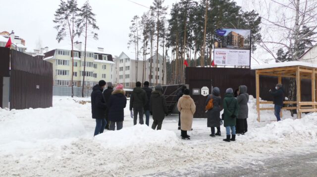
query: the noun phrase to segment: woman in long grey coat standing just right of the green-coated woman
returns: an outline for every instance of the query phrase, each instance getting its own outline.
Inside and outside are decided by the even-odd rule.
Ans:
[[[248,101],[249,94],[247,93],[247,86],[240,86],[237,96],[237,101],[239,104],[239,114],[237,116],[236,134],[244,134],[248,131]]]

